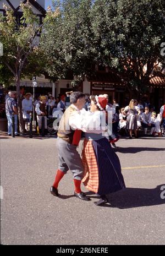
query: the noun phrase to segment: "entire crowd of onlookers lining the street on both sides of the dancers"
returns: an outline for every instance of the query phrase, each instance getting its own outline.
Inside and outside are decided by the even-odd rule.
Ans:
[[[42,116],[45,117],[45,133],[47,133],[47,118],[52,117],[54,111],[65,111],[69,106],[70,92],[66,95],[61,95],[57,99],[51,94],[42,95],[33,99],[32,95],[27,92],[24,96],[21,95],[22,113],[25,125],[25,131],[28,129],[30,122],[30,114],[35,106],[35,116],[38,123],[39,132],[41,132]],[[108,95],[105,95],[108,99]],[[86,95],[84,108],[90,111],[92,105],[95,105],[95,95]],[[5,96],[5,111],[8,119],[8,135],[12,134],[12,114],[15,117],[15,135],[17,132],[17,93],[9,91]],[[119,134],[122,136],[129,135],[131,139],[133,132],[135,138],[138,138],[140,130],[144,135],[151,134],[152,136],[162,136],[165,134],[165,104],[161,107],[160,112],[156,113],[154,106],[149,103],[132,99],[128,106],[120,108],[118,102],[113,99],[113,102],[108,102],[106,111],[112,111],[112,140],[117,141]],[[114,142],[113,141],[113,142]]]

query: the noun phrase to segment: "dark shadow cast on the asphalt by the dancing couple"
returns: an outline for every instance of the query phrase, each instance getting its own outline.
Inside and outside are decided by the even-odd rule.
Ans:
[[[107,195],[109,204],[103,207],[128,209],[143,206],[165,204],[165,199],[161,199],[161,193],[165,195],[161,187],[156,188],[126,188],[116,193]]]

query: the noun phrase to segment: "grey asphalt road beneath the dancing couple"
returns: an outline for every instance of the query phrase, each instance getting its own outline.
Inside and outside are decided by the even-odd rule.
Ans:
[[[0,143],[1,244],[165,244],[165,138],[118,141],[127,189],[109,195],[105,206],[94,204],[94,194],[91,201],[75,198],[70,172],[59,185],[61,198],[50,193],[55,138]]]

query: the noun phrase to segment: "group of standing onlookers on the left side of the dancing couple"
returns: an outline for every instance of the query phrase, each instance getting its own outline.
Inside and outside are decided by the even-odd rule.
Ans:
[[[40,95],[37,99],[34,99],[30,92],[23,94],[20,88],[20,99],[21,99],[21,107],[22,107],[22,115],[23,115],[23,125],[24,132],[26,133],[29,128],[30,115],[33,113],[33,109],[35,108],[35,119],[37,121],[39,132],[41,133],[42,126],[42,116],[45,118],[45,134],[48,133],[47,130],[47,118],[52,117],[54,111],[65,111],[67,106],[67,102],[69,101],[69,97],[66,95],[61,95],[54,99],[51,94],[48,95]],[[69,105],[69,102],[68,102]],[[15,136],[18,135],[18,104],[17,104],[17,92],[9,91],[8,94],[5,95],[5,113],[8,119],[8,135],[12,135],[12,116],[14,115],[15,119]]]

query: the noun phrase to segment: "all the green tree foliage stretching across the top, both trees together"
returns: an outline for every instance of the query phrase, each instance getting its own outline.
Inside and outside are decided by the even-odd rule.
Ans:
[[[77,86],[97,63],[111,67],[129,90],[141,94],[157,63],[165,64],[160,54],[163,0],[57,0],[53,7],[43,21],[38,47],[32,41],[41,28],[28,4],[22,6],[20,26],[12,10],[0,18],[1,63],[15,77],[42,72],[56,81],[72,70]]]

